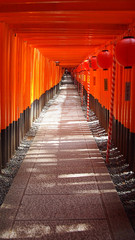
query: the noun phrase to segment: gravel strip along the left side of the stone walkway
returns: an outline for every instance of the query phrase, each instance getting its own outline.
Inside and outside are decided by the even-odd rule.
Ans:
[[[9,191],[9,188],[12,184],[12,181],[18,172],[18,169],[31,145],[33,142],[33,139],[37,133],[38,127],[40,126],[40,122],[42,118],[44,117],[44,114],[48,110],[48,108],[53,104],[54,100],[56,99],[57,94],[54,96],[53,99],[51,99],[46,106],[43,108],[40,116],[38,119],[36,119],[35,122],[33,122],[32,127],[25,135],[24,139],[21,141],[20,146],[15,151],[14,156],[10,161],[7,163],[6,168],[2,169],[2,172],[0,174],[0,205],[2,205],[4,198]]]

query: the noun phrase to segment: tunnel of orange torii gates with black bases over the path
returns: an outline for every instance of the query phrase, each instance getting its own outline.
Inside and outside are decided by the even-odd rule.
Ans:
[[[134,41],[132,54],[129,47],[122,56],[132,66],[115,52],[123,37],[134,37],[134,19],[134,0],[0,0],[0,168],[68,69],[108,131],[107,162],[113,140],[135,171]],[[108,60],[98,59],[102,50],[114,55],[107,68],[101,65]]]

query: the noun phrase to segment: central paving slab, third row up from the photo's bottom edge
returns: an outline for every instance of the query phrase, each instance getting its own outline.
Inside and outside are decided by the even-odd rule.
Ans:
[[[60,175],[61,176],[61,175]],[[59,178],[59,175],[31,175],[26,194],[84,194],[98,192],[94,176]]]

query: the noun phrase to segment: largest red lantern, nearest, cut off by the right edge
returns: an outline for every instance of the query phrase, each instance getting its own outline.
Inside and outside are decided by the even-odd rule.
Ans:
[[[132,68],[135,64],[135,39],[127,36],[116,45],[116,59],[125,68]]]

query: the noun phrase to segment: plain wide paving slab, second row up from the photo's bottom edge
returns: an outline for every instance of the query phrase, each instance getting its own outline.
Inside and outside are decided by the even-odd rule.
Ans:
[[[25,195],[16,220],[105,219],[98,192],[76,195]]]

